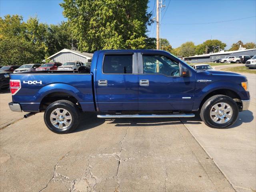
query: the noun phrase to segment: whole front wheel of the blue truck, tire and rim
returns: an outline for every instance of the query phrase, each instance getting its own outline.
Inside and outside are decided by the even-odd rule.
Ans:
[[[200,117],[202,121],[212,128],[228,128],[238,118],[236,102],[225,95],[215,95],[204,102]]]

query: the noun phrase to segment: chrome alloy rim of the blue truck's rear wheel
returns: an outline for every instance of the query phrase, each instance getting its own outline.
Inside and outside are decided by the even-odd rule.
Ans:
[[[72,116],[68,110],[63,108],[57,108],[52,111],[50,120],[53,126],[58,129],[65,129],[70,126],[72,122]]]

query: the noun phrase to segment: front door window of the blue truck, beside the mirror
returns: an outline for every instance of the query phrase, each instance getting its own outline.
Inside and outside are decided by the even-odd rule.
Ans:
[[[166,76],[179,76],[179,64],[162,55],[143,55],[144,74],[164,74]]]

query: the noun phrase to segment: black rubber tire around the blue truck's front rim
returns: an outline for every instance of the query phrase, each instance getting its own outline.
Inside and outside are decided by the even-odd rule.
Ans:
[[[230,105],[230,107],[233,110],[233,114],[232,114],[230,120],[228,120],[228,122],[223,123],[223,124],[218,124],[218,123],[214,122],[210,116],[210,110],[212,109],[212,107],[215,104],[218,104],[220,102],[224,102],[224,103]],[[236,120],[238,118],[238,112],[239,112],[238,106],[232,98],[225,96],[225,95],[215,95],[215,96],[210,97],[208,100],[206,100],[206,102],[204,102],[204,104],[201,108],[201,111],[200,111],[200,117],[201,117],[202,121],[209,127],[228,128],[236,122]]]

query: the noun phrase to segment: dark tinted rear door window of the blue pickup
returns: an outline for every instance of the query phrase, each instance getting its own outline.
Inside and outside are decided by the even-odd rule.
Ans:
[[[132,55],[105,55],[103,73],[132,74]]]

